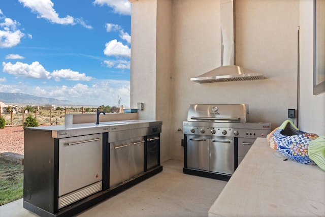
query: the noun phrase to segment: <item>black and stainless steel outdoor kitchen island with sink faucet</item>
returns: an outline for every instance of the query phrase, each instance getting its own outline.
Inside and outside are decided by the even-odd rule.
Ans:
[[[23,207],[75,215],[159,173],[162,121],[25,128]]]

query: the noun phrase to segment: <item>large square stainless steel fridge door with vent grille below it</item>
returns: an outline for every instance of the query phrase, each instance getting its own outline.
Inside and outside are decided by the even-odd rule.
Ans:
[[[59,140],[59,196],[102,180],[102,139],[92,134]]]

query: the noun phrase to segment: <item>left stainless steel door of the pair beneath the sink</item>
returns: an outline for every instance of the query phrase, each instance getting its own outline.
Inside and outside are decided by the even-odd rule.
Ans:
[[[129,140],[110,143],[110,187],[129,178]]]

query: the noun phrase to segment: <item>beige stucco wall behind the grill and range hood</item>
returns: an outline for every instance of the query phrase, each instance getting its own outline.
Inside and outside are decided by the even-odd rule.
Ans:
[[[220,66],[218,1],[173,2],[172,124],[182,127],[189,104],[249,104],[250,121],[278,127],[297,104],[299,2],[236,1],[236,64],[265,80],[198,84],[190,81]],[[173,129],[173,127],[172,127]],[[172,158],[182,159],[174,137]]]

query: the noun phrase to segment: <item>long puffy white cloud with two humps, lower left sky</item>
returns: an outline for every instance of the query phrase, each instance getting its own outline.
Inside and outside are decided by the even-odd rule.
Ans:
[[[55,81],[60,81],[61,78],[72,81],[90,81],[92,77],[86,76],[84,73],[72,71],[70,69],[54,70],[52,73],[45,70],[45,68],[35,61],[32,64],[24,64],[17,62],[12,64],[11,62],[3,62],[3,71],[16,77],[23,78],[36,78],[49,80],[53,78]]]

